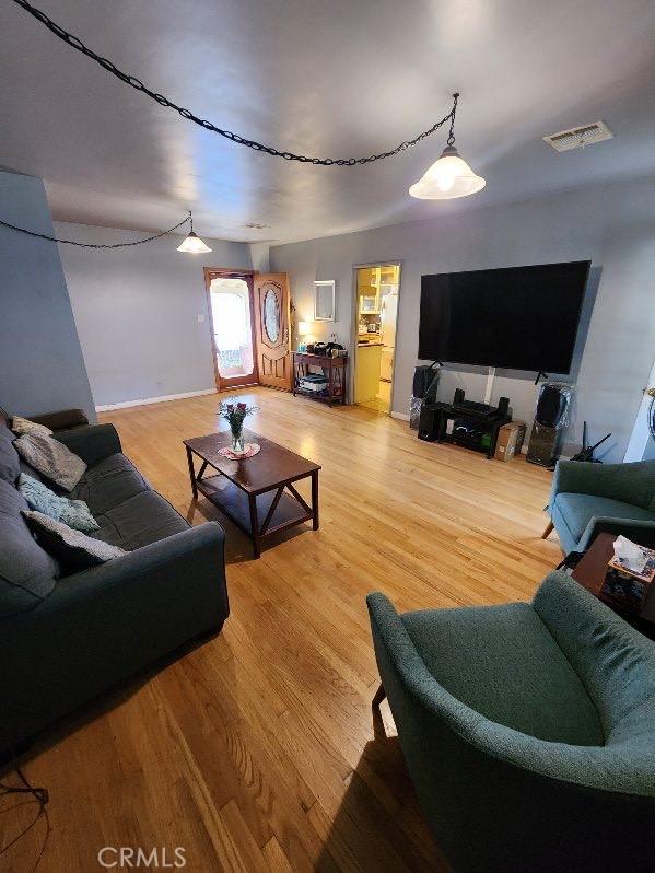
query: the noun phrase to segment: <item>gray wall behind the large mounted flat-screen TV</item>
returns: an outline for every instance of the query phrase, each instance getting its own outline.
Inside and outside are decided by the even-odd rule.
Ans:
[[[270,249],[271,269],[290,275],[299,318],[311,318],[313,281],[336,279],[337,322],[317,326],[316,334],[335,329],[349,347],[353,265],[402,263],[394,379],[397,412],[408,411],[417,363],[421,275],[586,258],[593,260],[593,271],[570,376],[577,384],[577,398],[568,450],[580,441],[586,419],[592,438],[613,434],[605,459],[621,461],[655,348],[654,178]],[[447,366],[440,398],[452,399],[454,389],[464,387],[469,399],[481,400],[487,372]],[[510,397],[514,417],[530,421],[534,379],[534,373],[499,371],[492,400]]]

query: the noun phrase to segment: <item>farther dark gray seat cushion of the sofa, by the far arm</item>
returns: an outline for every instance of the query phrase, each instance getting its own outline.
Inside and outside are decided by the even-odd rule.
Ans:
[[[134,465],[116,453],[87,467],[70,496],[83,500],[102,526],[101,515],[149,489]]]

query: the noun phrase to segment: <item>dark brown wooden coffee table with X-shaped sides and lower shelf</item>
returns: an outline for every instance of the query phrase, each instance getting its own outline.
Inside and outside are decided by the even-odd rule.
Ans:
[[[253,540],[255,558],[261,555],[261,540],[296,524],[312,522],[318,531],[318,470],[313,461],[244,430],[246,442],[258,443],[258,454],[232,461],[219,454],[232,445],[230,431],[184,440],[189,463],[194,499],[203,494]],[[196,473],[194,456],[200,458]],[[206,476],[210,467],[213,475]],[[300,479],[312,479],[312,505],[294,488]],[[260,520],[264,521],[260,521]]]

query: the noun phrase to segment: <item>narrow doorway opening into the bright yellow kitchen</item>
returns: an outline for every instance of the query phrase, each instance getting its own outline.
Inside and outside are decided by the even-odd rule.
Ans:
[[[354,401],[390,414],[394,393],[400,264],[354,268]]]

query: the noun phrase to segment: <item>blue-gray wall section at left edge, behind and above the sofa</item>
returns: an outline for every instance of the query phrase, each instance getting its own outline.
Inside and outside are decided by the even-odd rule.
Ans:
[[[0,171],[0,214],[52,235],[42,179]],[[22,415],[95,411],[55,243],[0,226],[0,405]]]

